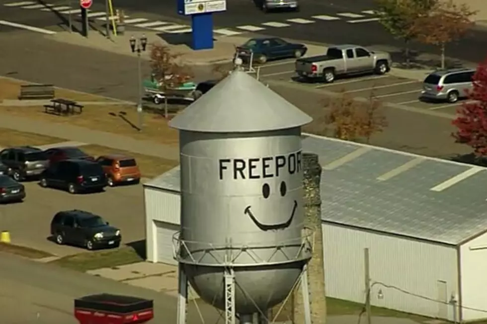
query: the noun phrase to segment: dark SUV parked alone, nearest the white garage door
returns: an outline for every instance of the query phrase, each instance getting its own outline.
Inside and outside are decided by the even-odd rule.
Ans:
[[[57,244],[73,244],[88,250],[120,246],[120,230],[103,218],[83,210],[60,211],[51,221],[51,235]]]

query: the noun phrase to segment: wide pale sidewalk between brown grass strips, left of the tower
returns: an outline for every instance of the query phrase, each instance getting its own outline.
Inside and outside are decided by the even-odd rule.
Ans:
[[[178,147],[148,140],[137,140],[106,131],[89,130],[69,124],[42,122],[0,113],[0,128],[59,137],[68,141],[96,144],[169,160],[179,160]]]

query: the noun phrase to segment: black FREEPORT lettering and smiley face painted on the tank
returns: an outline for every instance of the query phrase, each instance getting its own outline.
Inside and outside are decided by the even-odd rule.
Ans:
[[[245,197],[243,214],[263,231],[290,226],[298,209],[301,192],[301,151],[248,159],[219,160],[222,181],[251,181],[257,189]],[[230,178],[230,179],[229,179]],[[258,185],[258,186],[257,186]]]

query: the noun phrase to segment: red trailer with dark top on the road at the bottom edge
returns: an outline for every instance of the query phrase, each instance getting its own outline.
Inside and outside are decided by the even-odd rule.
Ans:
[[[152,300],[111,294],[75,299],[75,317],[80,324],[139,324],[154,318]]]

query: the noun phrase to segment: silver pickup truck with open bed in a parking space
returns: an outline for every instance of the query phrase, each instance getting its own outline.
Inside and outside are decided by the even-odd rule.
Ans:
[[[296,60],[296,73],[304,78],[321,78],[331,83],[337,75],[390,70],[391,56],[385,52],[372,52],[357,45],[328,47],[326,55]]]

